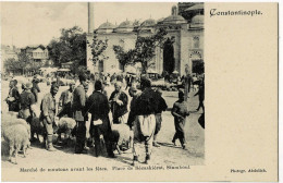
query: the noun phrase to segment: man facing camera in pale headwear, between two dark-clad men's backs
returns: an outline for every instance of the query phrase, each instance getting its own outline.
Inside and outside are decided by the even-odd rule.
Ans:
[[[111,103],[113,123],[126,123],[124,115],[127,113],[127,95],[122,91],[121,82],[115,83],[115,90],[111,94],[109,101]]]

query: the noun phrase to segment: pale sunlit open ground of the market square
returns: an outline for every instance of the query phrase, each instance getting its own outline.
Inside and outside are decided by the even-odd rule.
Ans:
[[[21,84],[19,84],[21,88]],[[50,86],[47,86],[45,83],[40,83],[39,87],[41,93],[39,93],[39,101],[42,96],[49,91]],[[67,89],[67,86],[60,87],[57,95],[57,99],[63,90]],[[21,90],[21,89],[20,89]],[[91,94],[91,87],[89,93]],[[110,96],[113,87],[107,88],[108,95]],[[8,111],[8,106],[3,101],[9,93],[9,82],[2,81],[1,87],[1,100],[2,100],[2,112]],[[190,115],[187,118],[186,122],[186,141],[187,149],[182,149],[180,142],[176,142],[177,146],[173,146],[172,138],[175,132],[174,121],[170,110],[173,107],[174,101],[177,100],[177,91],[163,91],[163,98],[165,99],[169,109],[163,112],[162,118],[162,127],[159,132],[158,142],[161,145],[160,147],[153,147],[152,158],[150,163],[156,166],[204,166],[205,164],[205,130],[198,124],[198,118],[201,112],[196,112],[198,107],[198,97],[194,97],[196,91],[190,91],[188,102]],[[38,103],[39,108],[39,103]],[[32,149],[28,149],[27,157],[23,158],[23,155],[20,154],[17,158],[17,164],[13,164],[8,161],[8,146],[7,143],[2,139],[1,143],[1,155],[2,155],[2,169],[7,168],[36,168],[36,167],[47,167],[47,168],[70,168],[70,167],[96,167],[96,166],[116,166],[116,167],[127,167],[132,163],[133,155],[131,150],[118,155],[116,158],[110,159],[107,157],[95,157],[94,149],[90,148],[87,155],[76,155],[74,154],[74,147],[62,147],[54,145],[58,149],[57,151],[47,151],[42,148],[41,144],[38,142],[32,145]],[[140,145],[139,156],[140,166],[145,160],[145,148]]]

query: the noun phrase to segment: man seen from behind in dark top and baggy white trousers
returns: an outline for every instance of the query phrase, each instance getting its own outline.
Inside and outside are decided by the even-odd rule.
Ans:
[[[151,89],[151,82],[148,78],[142,77],[140,88],[143,93],[136,98],[135,105],[133,105],[132,111],[136,115],[134,121],[134,159],[133,166],[138,161],[136,143],[145,142],[146,148],[146,160],[145,163],[148,163],[150,160],[152,141],[156,130],[156,113],[158,112],[158,102],[159,95]]]

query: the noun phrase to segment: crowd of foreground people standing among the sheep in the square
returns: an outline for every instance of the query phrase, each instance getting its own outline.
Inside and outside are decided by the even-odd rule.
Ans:
[[[96,156],[99,154],[99,143],[103,138],[107,154],[110,158],[114,158],[113,144],[111,142],[111,124],[127,124],[133,132],[133,163],[138,159],[138,151],[136,150],[137,143],[145,143],[146,159],[148,163],[150,160],[152,146],[159,147],[157,143],[158,133],[161,129],[162,112],[168,109],[168,105],[162,97],[161,89],[151,88],[151,81],[147,77],[140,77],[140,91],[137,89],[135,77],[126,75],[126,88],[131,98],[122,89],[121,78],[118,76],[110,76],[109,74],[100,78],[89,78],[86,74],[78,76],[79,84],[75,87],[75,82],[69,83],[69,88],[60,95],[59,103],[56,102],[56,95],[59,90],[59,82],[53,82],[50,91],[44,96],[41,101],[38,99],[38,80],[35,76],[32,83],[22,85],[22,94],[19,93],[17,82],[12,80],[10,82],[10,91],[7,98],[9,111],[17,112],[19,118],[30,123],[33,118],[39,118],[45,126],[44,141],[46,149],[53,151],[52,136],[54,132],[56,118],[72,118],[76,121],[76,127],[73,134],[76,136],[75,154],[86,154],[89,149],[88,141],[93,141]],[[89,81],[94,83],[94,91],[87,96]],[[114,85],[114,91],[108,97],[104,89],[108,85]],[[199,85],[199,89],[195,95],[199,96],[199,107],[204,107],[204,82]],[[130,101],[131,100],[131,101]],[[40,115],[36,117],[36,103],[40,102]],[[130,103],[130,106],[127,106]],[[112,114],[112,121],[109,119],[109,113]],[[181,145],[186,149],[185,141],[185,121],[189,115],[187,102],[185,100],[185,93],[181,89],[179,91],[179,100],[174,103],[172,111],[175,124],[175,134],[172,143],[180,139]],[[87,121],[90,121],[89,134],[87,139]],[[30,142],[34,136],[30,137]],[[91,144],[91,143],[90,143]],[[89,145],[91,146],[91,145]]]

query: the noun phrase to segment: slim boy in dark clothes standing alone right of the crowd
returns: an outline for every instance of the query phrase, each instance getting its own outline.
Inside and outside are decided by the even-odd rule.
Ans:
[[[185,101],[185,94],[183,91],[179,91],[179,100],[174,103],[172,111],[172,115],[174,117],[175,123],[175,134],[172,139],[172,143],[175,145],[176,139],[180,139],[180,143],[183,149],[186,148],[186,139],[185,139],[185,123],[186,117],[189,115],[187,111],[187,102]]]

